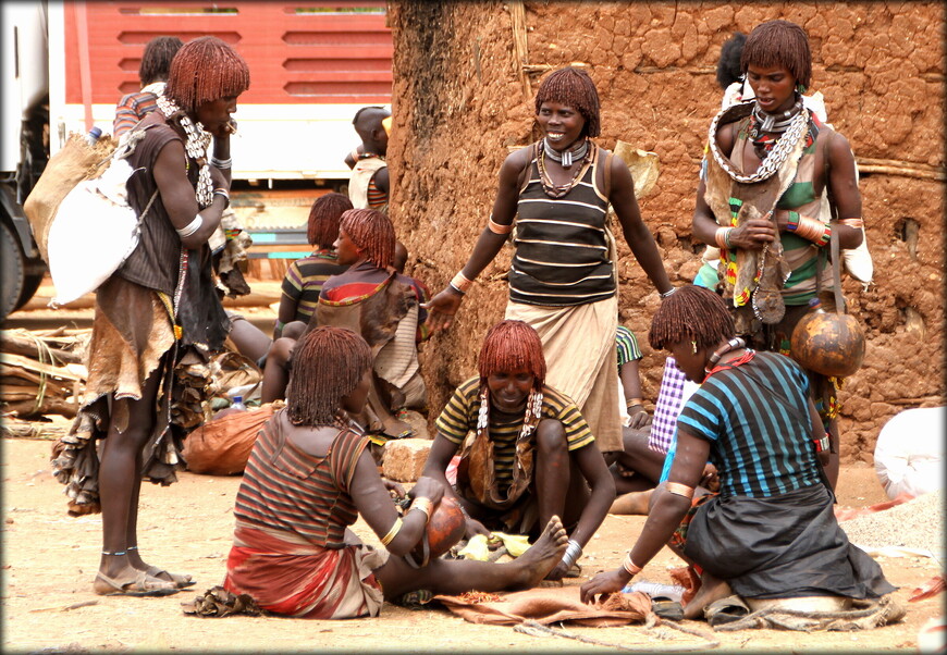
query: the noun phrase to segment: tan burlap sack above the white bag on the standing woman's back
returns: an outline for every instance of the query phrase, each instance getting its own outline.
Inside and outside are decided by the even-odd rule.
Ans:
[[[115,146],[116,141],[110,135],[103,135],[95,146],[89,146],[85,135],[70,134],[65,146],[49,159],[36,186],[26,197],[23,212],[46,263],[49,263],[49,226],[60,202],[79,182],[97,177],[106,170]]]

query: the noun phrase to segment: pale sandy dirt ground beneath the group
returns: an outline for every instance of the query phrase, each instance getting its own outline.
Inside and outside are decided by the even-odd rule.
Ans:
[[[169,487],[143,487],[139,535],[146,559],[192,573],[196,586],[163,598],[97,596],[91,581],[99,559],[101,516],[66,516],[62,486],[50,473],[51,444],[48,440],[2,440],[4,652],[604,651],[603,646],[571,639],[531,637],[512,628],[468,623],[443,608],[408,610],[385,605],[381,618],[333,622],[186,616],[181,602],[223,579],[239,477],[185,472]],[[840,505],[850,507],[885,499],[873,468],[864,464],[843,467],[838,497]],[[595,571],[616,566],[643,521],[637,516],[608,516],[581,560],[583,577],[567,584],[577,586]],[[355,531],[378,544],[364,522],[356,523]],[[880,558],[880,563],[905,597],[942,572],[931,558]],[[668,569],[679,564],[665,548],[638,579],[669,583]],[[718,640],[716,650],[723,652],[917,652],[919,629],[939,616],[943,601],[940,594],[912,603],[902,622],[856,633],[712,633],[704,622],[684,623]],[[648,652],[709,647],[706,641],[666,628],[566,630]]]

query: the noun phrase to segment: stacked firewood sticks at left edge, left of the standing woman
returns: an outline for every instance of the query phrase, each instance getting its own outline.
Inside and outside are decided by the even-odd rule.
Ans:
[[[0,411],[21,419],[75,417],[90,336],[90,329],[0,331]]]

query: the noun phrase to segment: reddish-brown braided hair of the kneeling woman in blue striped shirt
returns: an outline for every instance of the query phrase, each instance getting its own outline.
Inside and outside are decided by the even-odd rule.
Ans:
[[[655,350],[673,344],[694,342],[698,348],[714,348],[737,333],[723,299],[702,286],[688,284],[661,301],[648,343]]]

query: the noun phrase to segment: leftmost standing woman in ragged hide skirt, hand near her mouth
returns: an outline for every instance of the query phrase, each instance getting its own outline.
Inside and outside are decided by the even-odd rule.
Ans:
[[[128,201],[142,217],[140,238],[96,293],[84,404],[52,462],[70,514],[101,509],[98,594],[164,595],[194,584],[143,559],[138,494],[143,477],[170,484],[184,466],[176,364],[185,356],[205,361],[230,326],[207,240],[230,203],[231,114],[249,82],[230,46],[194,39],[175,55],[158,110],[128,134]]]

